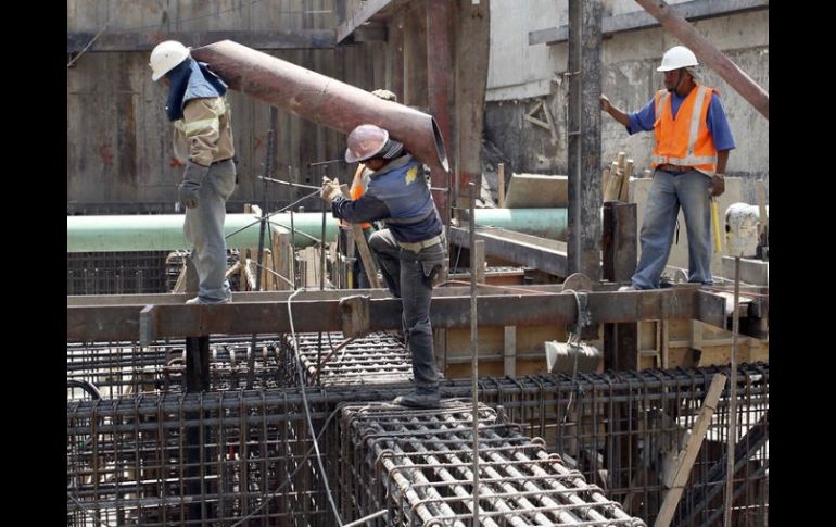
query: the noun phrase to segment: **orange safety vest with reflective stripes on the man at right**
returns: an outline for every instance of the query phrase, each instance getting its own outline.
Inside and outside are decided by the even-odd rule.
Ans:
[[[650,166],[693,166],[709,176],[717,172],[717,147],[706,126],[713,88],[697,85],[682,101],[676,118],[668,90],[656,92],[654,153]]]

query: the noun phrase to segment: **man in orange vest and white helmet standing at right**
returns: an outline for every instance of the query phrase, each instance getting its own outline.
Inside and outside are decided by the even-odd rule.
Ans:
[[[642,223],[642,256],[632,284],[620,290],[656,289],[671,252],[682,206],[688,231],[688,281],[712,284],[712,197],[725,190],[723,174],[732,130],[717,90],[699,84],[696,55],[684,46],[669,49],[656,68],[664,88],[637,113],[625,114],[601,95],[600,108],[628,133],[654,131],[654,180]]]

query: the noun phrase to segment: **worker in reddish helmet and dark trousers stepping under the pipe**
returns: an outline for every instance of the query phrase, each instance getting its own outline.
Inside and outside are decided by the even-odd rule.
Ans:
[[[432,348],[432,279],[446,260],[444,225],[425,177],[423,164],[378,126],[364,124],[349,135],[345,161],[372,172],[358,200],[342,196],[337,180],[322,178],[320,197],[334,217],[351,223],[382,219],[369,238],[389,290],[402,299],[404,339],[413,355],[416,390],[394,400],[411,407],[436,407],[439,373]]]

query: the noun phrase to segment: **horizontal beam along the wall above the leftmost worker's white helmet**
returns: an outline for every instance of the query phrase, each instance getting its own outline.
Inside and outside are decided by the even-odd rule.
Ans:
[[[67,53],[81,51],[94,37],[92,33],[67,33]],[[197,48],[219,40],[235,40],[258,50],[330,49],[337,46],[331,29],[293,29],[269,32],[105,32],[87,51],[151,51],[163,40],[178,40]]]

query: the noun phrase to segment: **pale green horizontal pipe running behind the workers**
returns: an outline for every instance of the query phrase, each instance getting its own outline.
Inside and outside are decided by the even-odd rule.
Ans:
[[[191,249],[182,234],[182,214],[67,216],[67,252],[173,251]],[[477,225],[499,227],[519,233],[565,239],[566,209],[477,209]],[[258,216],[227,214],[224,230],[231,248],[258,247]],[[290,230],[290,214],[276,214],[270,224]],[[297,248],[314,244],[322,233],[320,212],[293,214]],[[328,214],[327,241],[337,236],[338,221]],[[305,236],[308,235],[308,236]]]

